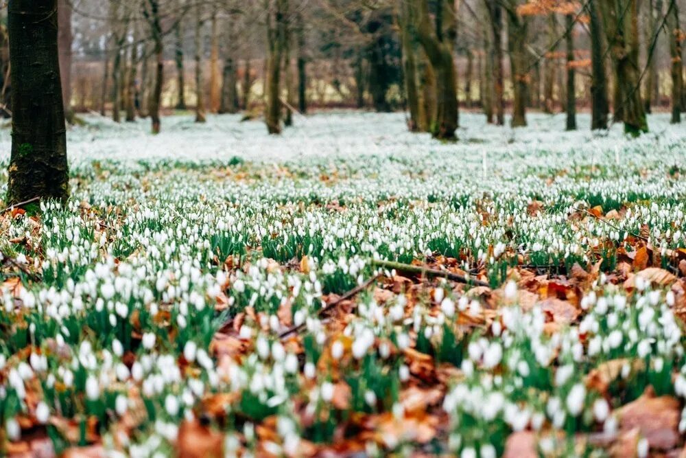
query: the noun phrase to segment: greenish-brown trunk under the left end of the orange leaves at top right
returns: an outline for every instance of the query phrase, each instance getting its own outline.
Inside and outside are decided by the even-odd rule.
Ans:
[[[514,7],[512,7],[514,8]],[[508,8],[508,51],[512,78],[512,127],[526,126],[526,95],[528,93],[527,19]]]

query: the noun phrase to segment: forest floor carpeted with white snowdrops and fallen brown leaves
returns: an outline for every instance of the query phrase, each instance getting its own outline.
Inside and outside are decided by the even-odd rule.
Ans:
[[[86,117],[0,215],[0,455],[686,456],[683,125],[529,119]]]

